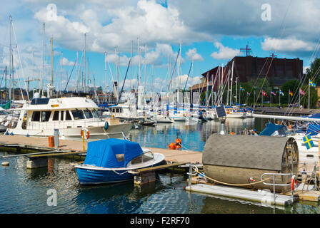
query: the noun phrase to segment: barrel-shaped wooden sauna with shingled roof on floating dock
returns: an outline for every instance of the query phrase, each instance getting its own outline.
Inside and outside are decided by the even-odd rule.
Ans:
[[[289,173],[298,175],[299,150],[294,138],[253,135],[211,135],[202,155],[204,174],[219,182],[240,185],[261,181],[263,173]],[[276,176],[277,184],[291,183],[290,176]],[[264,176],[263,179],[271,177]],[[265,181],[272,183],[272,177]],[[237,186],[269,189],[272,185],[262,182]],[[276,192],[286,192],[291,186],[276,187]]]

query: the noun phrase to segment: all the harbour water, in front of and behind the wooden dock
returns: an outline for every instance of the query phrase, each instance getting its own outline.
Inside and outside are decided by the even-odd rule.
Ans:
[[[226,131],[244,126],[260,130],[261,120],[228,120]],[[176,134],[190,150],[202,150],[207,138],[219,131],[219,123],[159,124],[132,130],[131,139],[142,146],[164,147]],[[6,152],[0,152],[1,155]],[[81,187],[70,160],[49,159],[48,167],[27,170],[25,157],[10,157],[9,167],[0,167],[0,213],[319,213],[319,204],[296,203],[290,207],[264,207],[252,202],[190,194],[184,191],[186,176],[159,173],[155,183],[136,187],[133,182],[99,187]],[[57,193],[56,206],[48,206],[47,191]]]

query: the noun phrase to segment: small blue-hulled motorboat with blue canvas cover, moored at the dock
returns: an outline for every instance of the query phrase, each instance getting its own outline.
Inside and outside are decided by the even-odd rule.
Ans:
[[[88,142],[84,164],[76,165],[81,185],[97,185],[133,180],[130,170],[159,165],[164,155],[142,149],[137,142],[106,139]]]

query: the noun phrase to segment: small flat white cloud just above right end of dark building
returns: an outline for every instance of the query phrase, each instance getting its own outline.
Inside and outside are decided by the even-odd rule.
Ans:
[[[265,38],[261,42],[264,51],[313,51],[314,43],[298,40],[296,38]]]

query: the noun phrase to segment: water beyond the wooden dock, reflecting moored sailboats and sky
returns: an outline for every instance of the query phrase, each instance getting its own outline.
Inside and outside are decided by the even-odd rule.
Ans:
[[[244,128],[254,128],[254,125],[255,118],[227,119],[225,132],[238,134]],[[175,142],[176,137],[179,137],[184,149],[202,151],[210,135],[219,133],[220,130],[221,124],[216,120],[205,123],[158,123],[156,126],[131,130],[129,138],[144,147],[167,148],[171,142]]]

